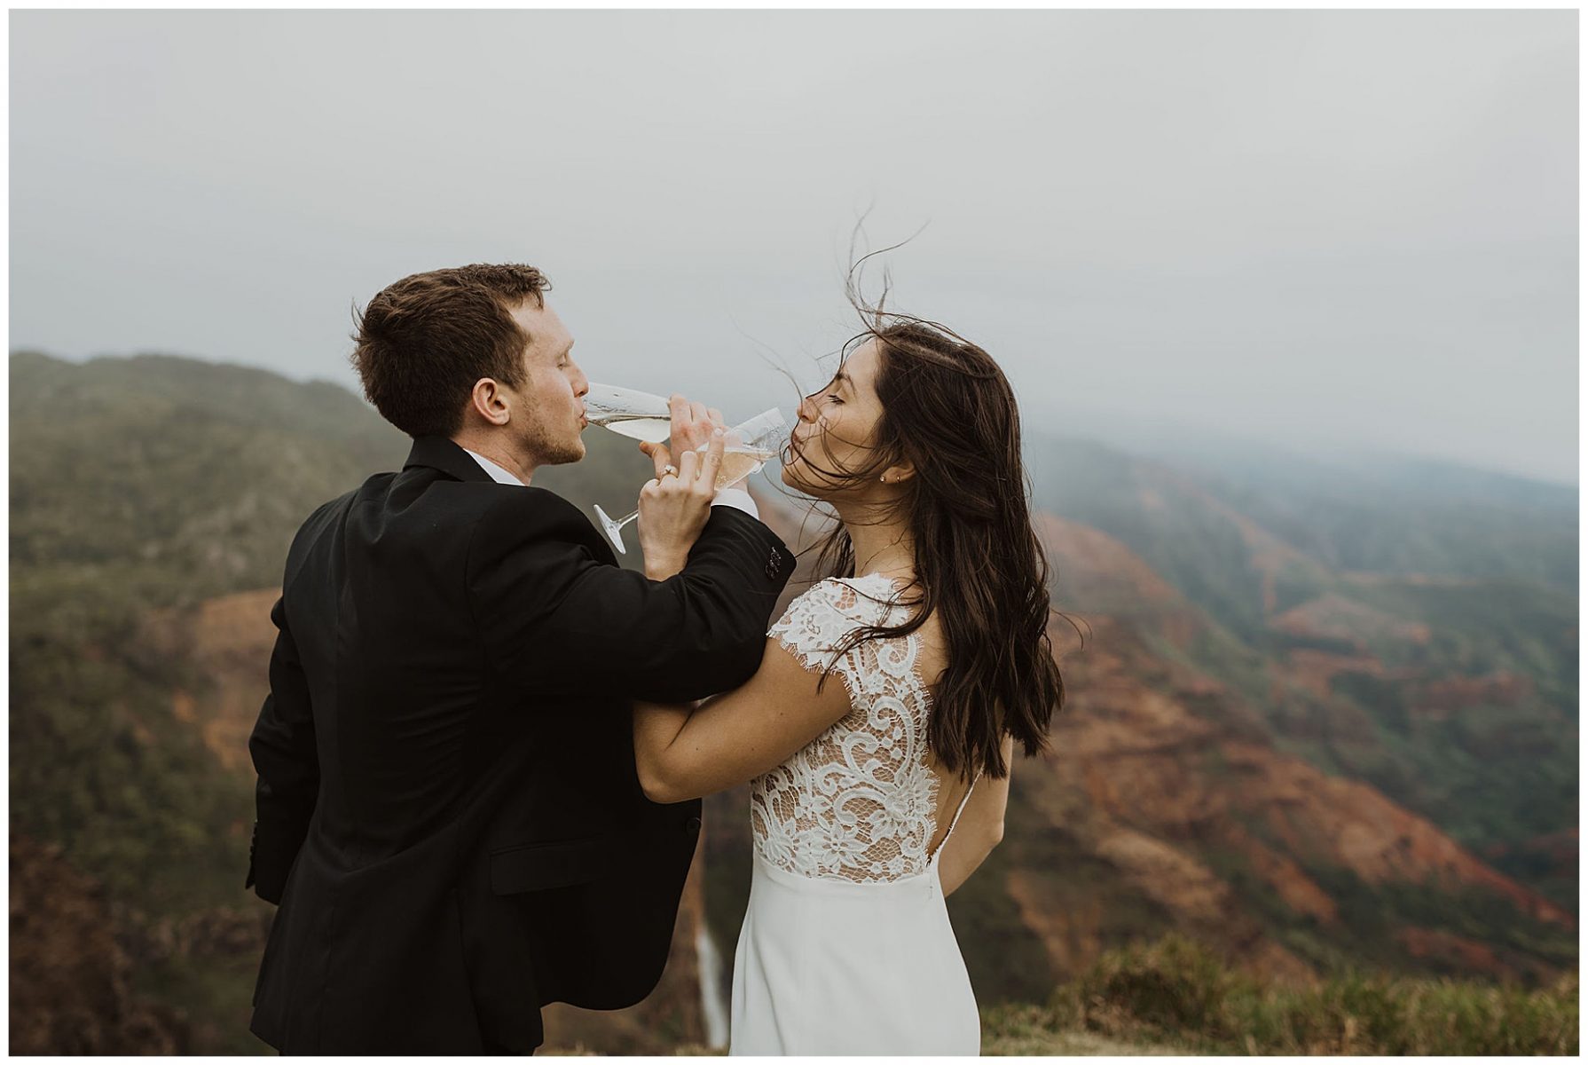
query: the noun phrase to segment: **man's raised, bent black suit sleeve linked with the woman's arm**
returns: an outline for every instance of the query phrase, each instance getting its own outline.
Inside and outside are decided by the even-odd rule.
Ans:
[[[488,656],[510,684],[676,703],[756,672],[794,571],[772,529],[713,507],[683,571],[661,582],[599,560],[589,536],[581,513],[540,493],[513,493],[476,528],[470,602]]]

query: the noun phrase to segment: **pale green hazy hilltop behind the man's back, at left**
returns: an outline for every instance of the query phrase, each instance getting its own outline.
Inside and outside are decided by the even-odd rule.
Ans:
[[[157,354],[13,354],[10,410],[13,564],[135,564],[186,594],[279,583],[310,510],[408,447],[337,385]]]

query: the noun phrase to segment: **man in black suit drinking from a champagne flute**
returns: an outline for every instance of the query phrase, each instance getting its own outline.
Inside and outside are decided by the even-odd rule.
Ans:
[[[745,682],[794,560],[670,466],[645,575],[530,486],[584,455],[545,289],[434,270],[359,323],[364,391],[414,442],[310,515],[270,612],[248,884],[279,909],[249,1027],[281,1052],[524,1054],[542,1005],[632,1005],[667,960],[700,801],[645,798],[629,703]],[[676,455],[711,432],[672,415]]]

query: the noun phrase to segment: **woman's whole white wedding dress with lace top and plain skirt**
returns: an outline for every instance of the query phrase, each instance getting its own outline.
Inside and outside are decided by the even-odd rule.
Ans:
[[[897,590],[881,574],[823,580],[767,634],[821,669],[850,629],[908,617],[888,602]],[[850,714],[751,782],[754,868],[729,1054],[980,1054],[942,844],[927,854],[939,780],[918,653],[915,633],[846,652],[827,684],[848,688]]]

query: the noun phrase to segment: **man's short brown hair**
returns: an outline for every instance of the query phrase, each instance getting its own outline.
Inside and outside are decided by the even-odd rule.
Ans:
[[[411,437],[451,436],[481,377],[524,383],[529,337],[511,312],[551,288],[535,267],[475,264],[413,273],[356,315],[351,362],[364,396]]]

